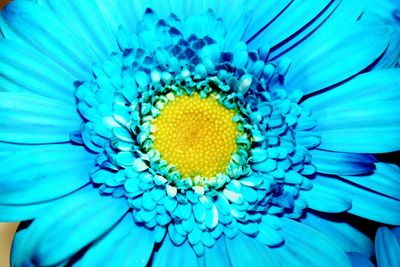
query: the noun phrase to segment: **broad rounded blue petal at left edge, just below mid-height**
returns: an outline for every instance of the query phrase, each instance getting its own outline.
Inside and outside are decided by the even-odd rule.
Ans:
[[[23,147],[0,160],[0,203],[29,204],[70,193],[89,183],[93,155],[83,147]]]

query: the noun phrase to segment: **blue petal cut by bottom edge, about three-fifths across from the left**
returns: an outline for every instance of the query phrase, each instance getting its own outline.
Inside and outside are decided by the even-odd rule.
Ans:
[[[244,234],[238,234],[233,239],[225,238],[226,250],[233,267],[241,266],[282,266],[273,251],[259,242]]]

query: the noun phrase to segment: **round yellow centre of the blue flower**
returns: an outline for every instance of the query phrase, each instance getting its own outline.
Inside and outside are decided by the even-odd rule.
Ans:
[[[210,178],[225,172],[236,152],[235,111],[213,97],[183,94],[168,102],[152,124],[154,149],[182,177]]]

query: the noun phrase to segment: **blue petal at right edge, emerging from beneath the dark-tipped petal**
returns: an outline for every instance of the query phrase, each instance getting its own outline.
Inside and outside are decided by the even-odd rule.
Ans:
[[[396,164],[376,163],[376,170],[362,176],[341,176],[372,191],[400,200],[400,168]]]

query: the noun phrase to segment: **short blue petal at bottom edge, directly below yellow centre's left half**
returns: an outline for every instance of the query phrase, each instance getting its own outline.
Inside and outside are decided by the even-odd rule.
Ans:
[[[198,266],[199,259],[197,258],[193,248],[186,241],[180,246],[172,243],[167,236],[161,244],[160,249],[154,254],[152,262],[153,266]]]

